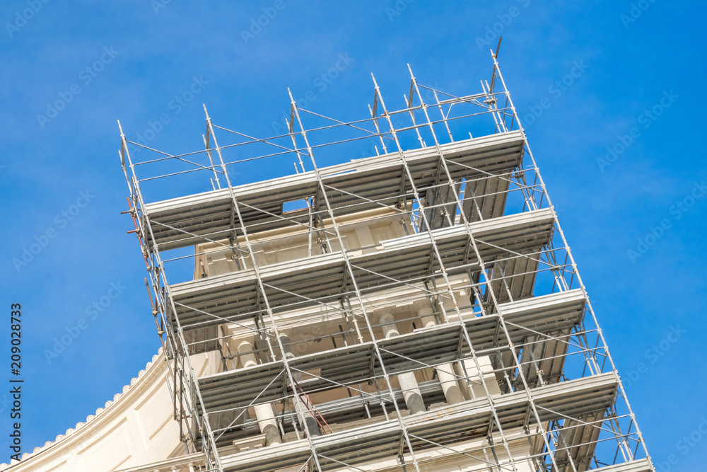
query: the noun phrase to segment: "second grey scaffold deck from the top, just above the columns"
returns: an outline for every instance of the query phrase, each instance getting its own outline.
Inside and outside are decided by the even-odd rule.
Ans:
[[[537,249],[549,241],[553,228],[549,209],[508,215],[469,226],[484,260],[507,253]],[[432,231],[440,257],[449,274],[464,273],[469,235],[464,226]],[[391,284],[434,275],[431,236],[427,233],[404,236],[382,243],[375,253],[349,256],[356,284],[361,292],[370,292]],[[346,264],[340,252],[313,255],[310,258],[259,268],[267,299],[274,311],[316,304],[317,300],[337,304],[342,294],[351,292],[344,285]],[[254,270],[230,272],[171,286],[177,316],[185,330],[204,328],[228,321],[252,318],[257,309],[257,276]]]

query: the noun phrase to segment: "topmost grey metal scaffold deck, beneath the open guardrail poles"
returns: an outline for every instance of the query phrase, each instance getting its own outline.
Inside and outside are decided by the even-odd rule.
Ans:
[[[443,154],[452,161],[448,168],[452,178],[485,178],[489,174],[502,174],[520,166],[522,159],[522,134],[518,131],[466,139],[441,146]],[[416,187],[426,188],[434,183],[438,166],[435,147],[405,151]],[[407,176],[402,172],[402,160],[397,153],[356,159],[349,163],[320,169],[327,185],[327,197],[337,216],[380,208],[376,202],[394,205],[399,192],[411,192]],[[400,180],[403,180],[402,185]],[[397,180],[397,182],[396,182]],[[233,191],[243,220],[250,231],[267,231],[293,224],[306,224],[308,212],[283,213],[283,203],[304,200],[319,192],[314,172],[290,175],[234,187]],[[354,195],[350,195],[354,194]],[[408,197],[411,200],[411,194]],[[491,200],[489,200],[491,202]],[[492,205],[493,206],[493,205]],[[231,236],[233,205],[228,189],[213,190],[162,202],[148,203],[144,213],[152,222],[155,242],[160,250],[193,246]],[[269,214],[267,214],[267,213]],[[322,214],[323,217],[327,215]],[[288,221],[283,217],[291,218]],[[187,234],[183,231],[187,231]],[[192,236],[196,235],[196,236]],[[148,242],[152,243],[151,237]]]

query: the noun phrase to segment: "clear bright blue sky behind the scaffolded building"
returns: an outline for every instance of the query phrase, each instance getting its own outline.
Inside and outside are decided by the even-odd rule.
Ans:
[[[480,3],[3,2],[0,306],[23,305],[25,451],[93,414],[158,349],[144,263],[126,234],[132,222],[119,214],[127,187],[116,120],[137,139],[167,115],[150,145],[177,154],[203,148],[202,103],[218,124],[262,137],[288,109],[287,87],[296,98],[311,92],[317,112],[364,117],[370,73],[400,105],[407,63],[423,84],[477,91],[491,73],[484,38],[495,44],[501,33],[504,78],[600,325],[624,379],[636,372],[628,393],[650,453],[701,470],[707,438],[685,454],[677,442],[707,417],[707,189],[699,190],[707,180],[706,8]],[[244,34],[262,8],[276,14]],[[317,78],[341,57],[348,64],[322,87]],[[554,86],[573,67],[572,84]],[[191,101],[175,101],[195,83]],[[57,100],[62,110],[48,110]],[[249,168],[238,183],[272,172]],[[47,231],[54,236],[45,239]],[[42,241],[26,265],[13,263]],[[55,340],[76,329],[47,359]],[[10,376],[4,352],[0,381]],[[9,428],[4,408],[0,431]]]

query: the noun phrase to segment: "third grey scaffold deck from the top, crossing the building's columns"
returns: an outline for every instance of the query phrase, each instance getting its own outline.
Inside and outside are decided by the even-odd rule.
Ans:
[[[521,343],[527,335],[568,328],[579,323],[584,303],[583,294],[577,289],[500,307],[512,342]],[[506,336],[498,334],[503,333],[499,330],[501,316],[495,314],[464,320],[474,350],[508,344]],[[396,374],[445,364],[469,355],[467,345],[460,343],[462,335],[459,324],[448,323],[380,340],[378,347],[386,372]],[[462,346],[461,350],[459,346]],[[382,375],[373,343],[315,352],[294,357],[288,363],[300,372],[317,372],[316,375],[321,377],[301,382],[300,385],[310,391],[337,388],[340,384],[356,384]],[[202,377],[199,379],[199,388],[204,405],[207,410],[220,410],[248,405],[259,395],[257,403],[281,398],[286,388],[283,369],[282,362],[277,361]],[[276,376],[279,377],[274,381]],[[271,385],[266,389],[268,384]]]

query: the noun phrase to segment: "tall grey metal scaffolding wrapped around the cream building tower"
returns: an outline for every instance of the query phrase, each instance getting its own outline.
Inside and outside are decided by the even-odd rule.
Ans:
[[[372,75],[361,120],[289,93],[287,132],[267,138],[206,106],[198,151],[120,129],[200,470],[655,470],[497,55],[467,96],[410,69],[398,110]],[[219,372],[199,376],[190,356],[214,352]]]

